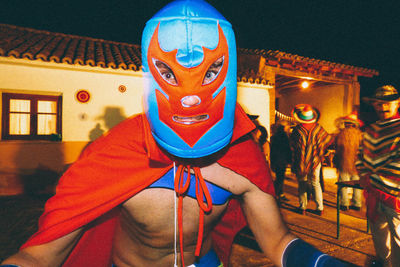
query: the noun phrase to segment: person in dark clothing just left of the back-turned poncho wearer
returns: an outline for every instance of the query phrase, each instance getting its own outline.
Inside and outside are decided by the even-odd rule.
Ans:
[[[288,201],[283,192],[286,167],[292,161],[292,150],[287,134],[288,127],[290,127],[288,122],[278,122],[275,124],[274,134],[271,136],[270,162],[271,170],[275,172],[274,187],[279,202]]]

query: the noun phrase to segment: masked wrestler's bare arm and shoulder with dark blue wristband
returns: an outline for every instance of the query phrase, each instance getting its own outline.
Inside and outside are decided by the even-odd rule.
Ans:
[[[261,191],[240,174],[218,163],[201,168],[212,182],[234,195],[242,197],[242,209],[257,243],[277,266],[284,267],[342,267],[342,262],[298,239],[289,232],[273,196]]]

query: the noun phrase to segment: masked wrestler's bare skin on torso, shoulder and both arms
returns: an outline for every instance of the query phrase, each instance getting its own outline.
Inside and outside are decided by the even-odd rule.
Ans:
[[[205,180],[214,183],[241,200],[250,229],[276,266],[287,244],[295,238],[284,224],[273,196],[262,192],[248,179],[218,163],[201,168]],[[127,200],[122,207],[120,224],[114,238],[113,261],[119,267],[173,266],[174,263],[174,193],[169,189],[148,188]],[[201,255],[212,247],[210,232],[226,208],[215,205],[205,217]],[[197,201],[183,200],[183,231],[185,265],[195,261],[194,250],[198,232]],[[20,266],[60,266],[82,229],[52,242],[28,247],[3,264]],[[178,245],[179,247],[179,245]],[[180,255],[177,255],[178,261]]]

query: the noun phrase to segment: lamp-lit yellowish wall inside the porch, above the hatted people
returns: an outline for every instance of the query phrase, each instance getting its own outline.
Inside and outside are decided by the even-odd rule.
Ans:
[[[351,112],[348,99],[348,86],[344,84],[310,88],[282,95],[279,100],[279,111],[290,115],[296,104],[310,104],[321,112],[319,123],[322,127],[327,132],[334,133],[337,130],[335,119]]]

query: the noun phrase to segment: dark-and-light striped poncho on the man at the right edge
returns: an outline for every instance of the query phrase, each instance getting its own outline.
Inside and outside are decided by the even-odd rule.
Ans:
[[[400,118],[378,121],[366,128],[356,162],[360,176],[371,186],[400,196]]]

